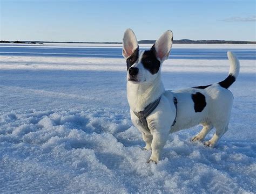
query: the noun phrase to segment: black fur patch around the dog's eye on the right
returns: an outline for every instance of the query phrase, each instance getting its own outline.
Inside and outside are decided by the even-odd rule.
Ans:
[[[143,53],[142,64],[151,74],[156,74],[159,71],[161,63],[156,57],[156,48],[154,48],[154,45],[150,51]]]

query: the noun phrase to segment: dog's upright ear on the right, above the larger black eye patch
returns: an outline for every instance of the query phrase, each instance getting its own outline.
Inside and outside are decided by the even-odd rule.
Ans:
[[[168,59],[171,48],[172,48],[173,34],[171,30],[167,30],[161,37],[156,41],[151,49],[156,49],[157,58],[163,62]]]

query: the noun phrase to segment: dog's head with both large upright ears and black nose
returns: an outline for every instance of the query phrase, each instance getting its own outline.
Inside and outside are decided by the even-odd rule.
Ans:
[[[123,56],[127,64],[127,81],[149,83],[160,73],[161,63],[168,59],[173,41],[172,31],[166,31],[148,51],[139,51],[138,41],[131,29],[123,38]]]

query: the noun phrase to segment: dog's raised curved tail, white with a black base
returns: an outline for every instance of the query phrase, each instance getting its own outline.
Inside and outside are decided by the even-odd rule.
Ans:
[[[231,51],[228,51],[227,57],[230,61],[230,72],[228,73],[228,76],[225,80],[218,83],[221,87],[226,89],[230,87],[232,83],[234,83],[234,81],[237,79],[240,70],[240,64],[237,56],[235,56],[235,54],[233,54]]]

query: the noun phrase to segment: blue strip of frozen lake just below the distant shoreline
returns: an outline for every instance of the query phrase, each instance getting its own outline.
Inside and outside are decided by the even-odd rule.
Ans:
[[[95,47],[77,44],[76,47],[65,44],[63,46],[28,45],[5,46],[0,45],[3,56],[63,56],[63,57],[91,57],[91,58],[123,58],[121,47]],[[145,48],[143,48],[145,49]],[[174,48],[171,59],[226,59],[227,51],[232,51],[239,59],[256,60],[255,48]]]

